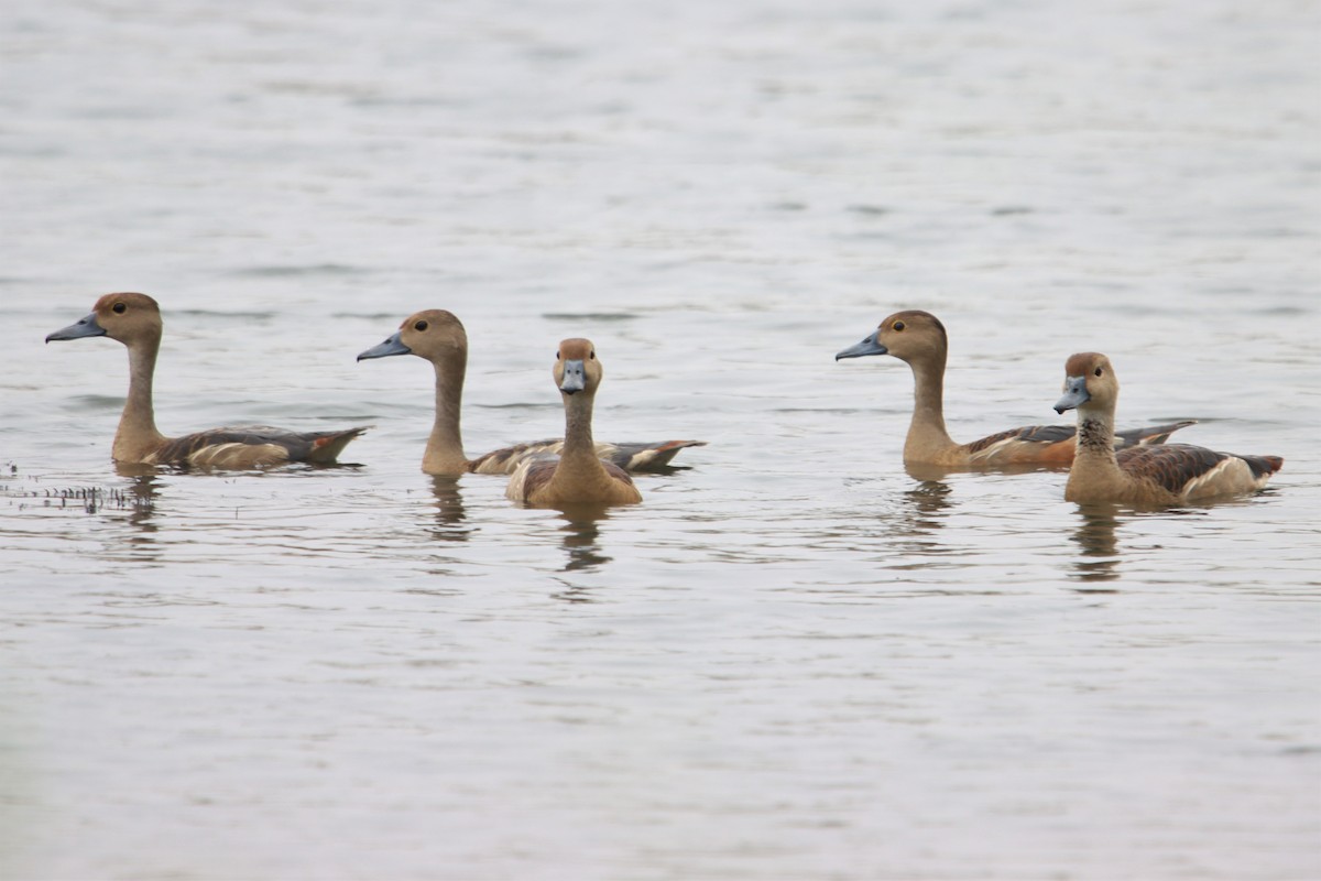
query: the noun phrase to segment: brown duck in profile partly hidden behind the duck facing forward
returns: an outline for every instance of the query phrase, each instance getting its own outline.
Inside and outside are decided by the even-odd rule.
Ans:
[[[564,439],[551,439],[503,446],[477,458],[464,454],[460,411],[468,371],[468,332],[454,313],[445,309],[413,313],[384,342],[361,353],[358,361],[391,355],[416,355],[429,361],[436,370],[436,415],[421,457],[424,473],[440,477],[513,474],[524,460],[557,456],[564,449]],[[649,472],[668,465],[682,449],[704,445],[705,441],[697,440],[598,442],[596,453],[627,472]]]

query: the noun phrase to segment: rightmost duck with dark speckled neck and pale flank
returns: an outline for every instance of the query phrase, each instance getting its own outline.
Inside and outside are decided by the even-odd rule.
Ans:
[[[1284,466],[1279,456],[1218,453],[1192,444],[1115,450],[1119,379],[1110,358],[1082,351],[1065,362],[1063,396],[1055,412],[1078,411],[1078,453],[1065,499],[1170,506],[1246,495]]]

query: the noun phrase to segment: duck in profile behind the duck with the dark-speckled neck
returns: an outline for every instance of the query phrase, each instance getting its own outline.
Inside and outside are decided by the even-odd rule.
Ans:
[[[835,355],[893,355],[913,370],[914,407],[904,441],[904,464],[938,468],[1004,468],[1067,466],[1074,457],[1074,425],[1026,425],[989,435],[970,444],[950,439],[945,428],[945,362],[948,334],[930,312],[908,309],[896,312],[857,345]],[[1151,425],[1119,432],[1119,448],[1164,444],[1180,428],[1193,425],[1184,420],[1168,425]]]

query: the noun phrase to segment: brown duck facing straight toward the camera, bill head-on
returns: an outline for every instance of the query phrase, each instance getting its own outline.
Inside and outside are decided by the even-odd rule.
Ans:
[[[524,460],[510,478],[505,495],[534,506],[641,502],[642,493],[629,473],[596,454],[592,403],[604,371],[592,341],[560,342],[552,375],[564,402],[564,448],[557,457]]]

